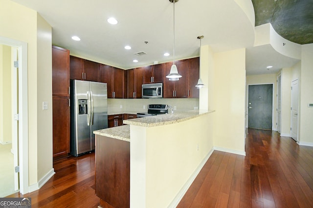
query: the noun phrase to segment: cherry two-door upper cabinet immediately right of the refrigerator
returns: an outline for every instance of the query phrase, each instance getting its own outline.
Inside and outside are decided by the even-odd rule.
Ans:
[[[99,66],[101,83],[108,83],[108,98],[123,98],[124,70],[106,64]]]

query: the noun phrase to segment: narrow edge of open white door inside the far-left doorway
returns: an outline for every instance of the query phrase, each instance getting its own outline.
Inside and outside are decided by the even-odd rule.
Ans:
[[[11,152],[13,153],[14,157],[14,167],[19,166],[19,139],[18,139],[18,132],[19,132],[19,127],[18,127],[18,117],[17,115],[19,114],[19,104],[18,104],[18,71],[19,67],[16,67],[15,62],[18,62],[19,60],[19,52],[18,48],[16,47],[11,47],[11,61],[12,61],[12,67],[11,67],[11,105],[12,105],[12,150]],[[19,172],[14,171],[14,190],[19,190]]]

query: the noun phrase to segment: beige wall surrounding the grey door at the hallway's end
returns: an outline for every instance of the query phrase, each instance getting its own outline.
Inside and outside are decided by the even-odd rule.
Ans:
[[[263,74],[263,75],[250,75],[246,76],[246,85],[252,84],[273,84],[273,118],[272,118],[272,129],[276,130],[276,94],[277,94],[277,74]],[[246,87],[246,99],[248,98],[248,87]],[[247,103],[245,104],[247,110]],[[247,126],[246,126],[247,127]]]

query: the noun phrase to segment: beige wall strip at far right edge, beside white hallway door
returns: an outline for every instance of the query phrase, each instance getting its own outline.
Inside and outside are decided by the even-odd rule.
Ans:
[[[313,44],[302,45],[300,86],[300,144],[313,145]]]

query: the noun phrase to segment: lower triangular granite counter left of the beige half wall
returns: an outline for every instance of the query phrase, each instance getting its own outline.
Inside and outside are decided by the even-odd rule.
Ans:
[[[114,139],[123,140],[126,142],[131,141],[130,125],[120,125],[112,128],[105,128],[93,131],[93,133],[100,136],[106,136]]]

